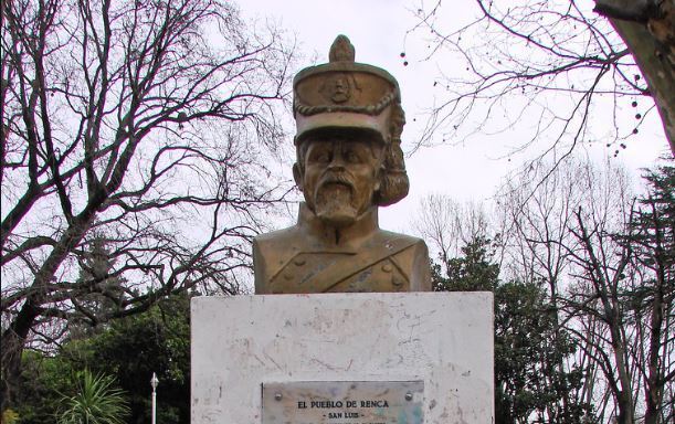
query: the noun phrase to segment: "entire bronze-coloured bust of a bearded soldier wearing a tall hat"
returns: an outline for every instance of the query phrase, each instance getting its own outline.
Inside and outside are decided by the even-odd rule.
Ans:
[[[380,230],[378,206],[408,194],[397,81],[355,63],[339,35],[327,64],[294,82],[297,224],[253,242],[256,294],[425,292],[423,241]]]

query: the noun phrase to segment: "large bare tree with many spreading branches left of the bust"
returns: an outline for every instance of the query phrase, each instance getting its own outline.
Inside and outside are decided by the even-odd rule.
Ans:
[[[219,0],[1,11],[4,405],[22,350],[75,316],[96,325],[193,287],[238,290],[259,218],[285,193],[264,156],[283,136],[293,45]],[[94,239],[103,273],[87,269]],[[91,294],[116,308],[97,314],[80,300]]]

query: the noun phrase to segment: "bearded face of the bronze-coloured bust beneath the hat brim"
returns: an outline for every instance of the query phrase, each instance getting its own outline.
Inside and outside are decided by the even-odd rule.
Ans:
[[[305,167],[297,183],[309,209],[329,225],[349,225],[373,205],[382,147],[371,138],[319,132],[303,141]]]

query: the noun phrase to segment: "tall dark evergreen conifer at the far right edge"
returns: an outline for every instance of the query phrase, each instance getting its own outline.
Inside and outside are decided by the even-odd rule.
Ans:
[[[629,234],[620,235],[634,253],[640,275],[623,298],[639,329],[634,351],[643,370],[644,422],[661,424],[675,418],[673,400],[667,400],[675,381],[675,167],[657,168],[644,178],[648,191],[639,199]]]

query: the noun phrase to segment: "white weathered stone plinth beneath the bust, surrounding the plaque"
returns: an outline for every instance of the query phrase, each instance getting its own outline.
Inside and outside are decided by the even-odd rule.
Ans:
[[[192,299],[192,424],[261,423],[263,383],[415,380],[424,423],[492,423],[493,368],[489,293]]]

